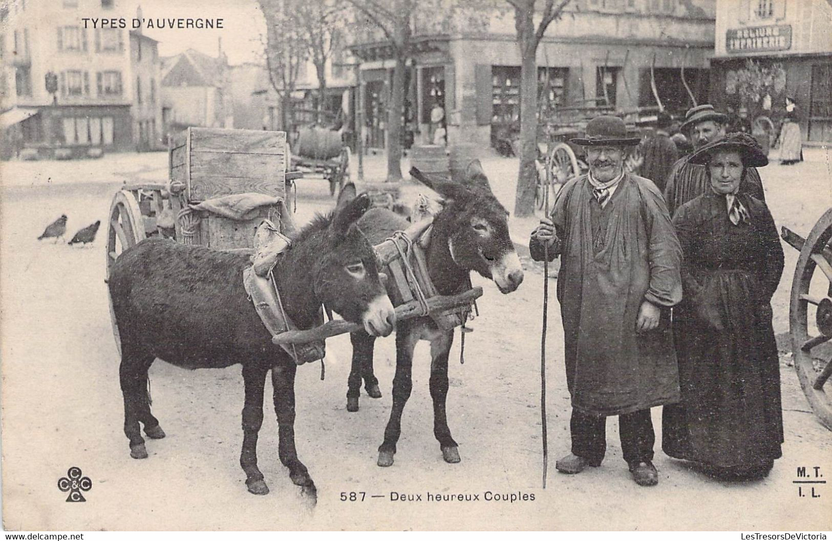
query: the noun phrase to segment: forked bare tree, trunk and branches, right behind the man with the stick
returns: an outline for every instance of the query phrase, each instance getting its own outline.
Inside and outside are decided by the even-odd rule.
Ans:
[[[545,0],[540,22],[534,24],[538,0],[506,0],[514,7],[514,27],[520,47],[520,168],[514,216],[532,216],[537,170],[537,46],[549,24],[561,17],[570,0]]]

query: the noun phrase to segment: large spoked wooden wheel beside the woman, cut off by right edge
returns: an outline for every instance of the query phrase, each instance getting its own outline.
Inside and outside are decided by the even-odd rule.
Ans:
[[[832,430],[832,400],[824,384],[832,373],[832,362],[815,370],[812,349],[832,339],[832,209],[812,229],[806,239],[791,285],[789,326],[791,347],[800,387],[820,423]],[[818,272],[815,272],[817,270]],[[829,355],[829,350],[825,350]],[[822,365],[823,363],[821,363]]]

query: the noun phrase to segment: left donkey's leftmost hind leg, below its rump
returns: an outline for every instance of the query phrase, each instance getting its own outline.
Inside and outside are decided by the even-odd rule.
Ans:
[[[142,405],[147,400],[144,386],[147,381],[146,367],[152,362],[151,355],[136,348],[129,340],[122,341],[121,365],[119,365],[118,372],[121,395],[124,397],[124,434],[130,440],[130,456],[134,459],[147,458],[145,439],[141,437],[139,420],[142,418]]]

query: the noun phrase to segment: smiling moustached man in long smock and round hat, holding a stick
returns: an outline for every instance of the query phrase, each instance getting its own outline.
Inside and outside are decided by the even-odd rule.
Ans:
[[[650,408],[679,400],[669,312],[681,300],[681,249],[665,203],[646,178],[625,173],[638,143],[617,117],[597,117],[587,136],[589,173],[557,194],[552,219],[532,231],[529,251],[562,258],[557,299],[572,395],[572,453],[564,474],[598,466],[607,416],[618,415],[623,458],[637,484],[658,483]]]

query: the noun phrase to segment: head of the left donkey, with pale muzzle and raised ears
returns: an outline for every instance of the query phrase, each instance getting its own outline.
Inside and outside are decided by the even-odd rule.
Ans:
[[[324,245],[317,247],[314,293],[344,320],[361,322],[369,335],[393,332],[396,315],[384,290],[373,246],[355,225],[370,206],[359,196],[335,208]]]

